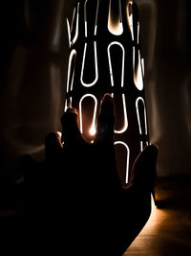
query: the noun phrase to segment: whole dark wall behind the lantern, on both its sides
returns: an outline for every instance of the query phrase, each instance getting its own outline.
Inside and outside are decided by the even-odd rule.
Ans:
[[[1,180],[22,175],[20,159],[44,159],[44,139],[60,130],[68,38],[76,1],[1,2]],[[138,0],[151,142],[158,175],[190,175],[191,2]]]

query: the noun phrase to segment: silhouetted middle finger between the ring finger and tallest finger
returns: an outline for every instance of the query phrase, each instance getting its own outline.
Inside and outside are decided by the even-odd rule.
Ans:
[[[84,142],[84,138],[79,130],[77,122],[77,111],[74,107],[67,108],[66,112],[62,115],[62,142],[65,145],[76,144]]]

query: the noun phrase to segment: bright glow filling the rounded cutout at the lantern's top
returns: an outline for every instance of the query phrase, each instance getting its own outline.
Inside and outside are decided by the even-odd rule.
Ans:
[[[122,17],[121,17],[121,4],[118,1],[118,13],[116,15],[116,9],[112,7],[112,0],[110,0],[109,15],[108,15],[108,30],[113,35],[122,35]]]

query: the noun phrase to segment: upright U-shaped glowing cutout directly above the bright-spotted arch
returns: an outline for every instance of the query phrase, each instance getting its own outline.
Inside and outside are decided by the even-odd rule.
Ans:
[[[82,59],[82,66],[81,66],[81,76],[80,76],[80,81],[81,83],[83,84],[83,86],[85,87],[91,87],[93,86],[96,81],[98,80],[98,67],[97,67],[97,53],[96,53],[96,41],[94,42],[94,52],[95,52],[95,80],[90,82],[90,83],[87,83],[87,82],[84,82],[83,81],[83,76],[84,76],[84,65],[85,65],[85,61],[86,61],[86,52],[87,52],[87,47],[88,47],[88,44],[85,43],[84,45],[84,52],[83,52],[83,59]],[[89,63],[91,64],[91,63]]]

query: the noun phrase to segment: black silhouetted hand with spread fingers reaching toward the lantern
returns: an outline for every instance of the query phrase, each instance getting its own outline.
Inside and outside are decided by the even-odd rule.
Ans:
[[[37,182],[52,196],[48,220],[56,216],[53,223],[65,234],[59,242],[72,243],[72,255],[75,249],[83,255],[90,249],[91,255],[121,255],[150,216],[158,149],[150,145],[138,155],[124,189],[117,175],[112,97],[102,99],[94,143],[81,135],[74,108],[67,109],[61,123],[62,135],[50,133],[45,140],[46,160]]]

